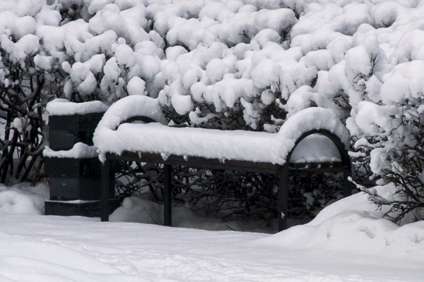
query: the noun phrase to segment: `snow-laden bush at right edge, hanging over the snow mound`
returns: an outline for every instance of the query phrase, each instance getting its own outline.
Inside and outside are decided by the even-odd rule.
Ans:
[[[399,63],[383,76],[379,103],[358,103],[355,149],[377,184],[393,183],[394,195],[365,188],[370,199],[389,205],[394,221],[424,219],[424,61]]]

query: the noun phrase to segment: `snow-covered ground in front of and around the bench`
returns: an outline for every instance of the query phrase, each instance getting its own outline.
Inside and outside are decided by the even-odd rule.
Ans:
[[[379,188],[384,192],[389,188]],[[42,216],[45,185],[0,186],[0,281],[423,281],[424,222],[398,227],[362,193],[274,235],[178,209],[181,227]],[[142,204],[144,203],[144,206]],[[158,207],[127,200],[114,220]],[[187,216],[192,224],[183,221]],[[132,217],[132,218],[131,218]],[[227,228],[229,229],[229,228]]]

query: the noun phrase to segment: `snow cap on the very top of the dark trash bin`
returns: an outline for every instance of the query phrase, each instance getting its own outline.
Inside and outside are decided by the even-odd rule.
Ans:
[[[105,112],[109,107],[100,101],[74,103],[67,99],[54,99],[47,103],[50,116],[71,116],[73,114],[91,114]]]

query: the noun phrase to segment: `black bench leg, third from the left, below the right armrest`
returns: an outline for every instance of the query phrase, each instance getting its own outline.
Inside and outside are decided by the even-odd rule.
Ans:
[[[278,232],[287,229],[288,166],[278,169]]]

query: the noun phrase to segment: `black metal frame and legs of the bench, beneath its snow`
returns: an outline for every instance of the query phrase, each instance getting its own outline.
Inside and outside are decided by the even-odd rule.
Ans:
[[[290,158],[298,144],[305,137],[312,134],[321,134],[328,137],[336,145],[341,156],[341,161],[332,163],[309,163],[306,166],[290,164]],[[232,171],[248,171],[254,173],[270,173],[278,176],[278,231],[287,228],[288,214],[288,177],[294,171],[314,171],[318,173],[340,173],[343,172],[343,197],[351,195],[351,183],[348,178],[351,176],[351,159],[348,150],[340,138],[329,130],[310,130],[296,140],[295,146],[288,154],[283,166],[278,164],[252,162],[252,161],[232,161],[222,162],[220,159],[206,159],[202,157],[184,157],[170,155],[163,159],[160,154],[148,152],[123,152],[117,154],[105,154],[105,162],[102,166],[102,194],[101,194],[101,220],[109,221],[109,198],[114,197],[114,161],[139,161],[164,165],[164,225],[172,226],[172,166],[188,166],[193,168],[225,169]]]

